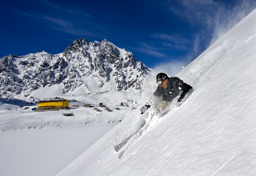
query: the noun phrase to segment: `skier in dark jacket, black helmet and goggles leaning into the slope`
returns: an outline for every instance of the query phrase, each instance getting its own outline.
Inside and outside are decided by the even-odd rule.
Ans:
[[[153,102],[152,99],[156,97],[160,103],[157,105],[157,110],[165,110],[168,104],[177,96],[180,96],[177,101],[177,107],[179,107],[186,98],[194,91],[194,89],[184,83],[178,77],[169,78],[165,73],[159,73],[156,76],[156,84],[159,86],[156,88],[154,92],[154,96],[149,99],[149,103],[147,102],[145,106],[140,109],[140,114],[143,114],[148,108],[150,108],[150,104]],[[154,102],[155,103],[155,102]]]

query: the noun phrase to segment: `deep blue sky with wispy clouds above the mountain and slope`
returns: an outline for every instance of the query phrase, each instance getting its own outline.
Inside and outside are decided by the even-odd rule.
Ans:
[[[255,0],[9,0],[0,3],[0,57],[62,53],[107,39],[148,67],[194,60],[256,7]]]

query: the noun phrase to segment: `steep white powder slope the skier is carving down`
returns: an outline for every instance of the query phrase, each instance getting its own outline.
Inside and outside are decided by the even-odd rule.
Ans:
[[[255,58],[256,10],[178,74],[194,93],[134,140],[123,158],[111,140],[129,119],[140,118],[138,110],[57,176],[255,175]]]

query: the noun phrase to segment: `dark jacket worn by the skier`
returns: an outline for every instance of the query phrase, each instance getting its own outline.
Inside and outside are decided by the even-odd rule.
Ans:
[[[171,102],[175,97],[180,95],[178,102],[183,102],[185,96],[190,95],[193,91],[193,88],[188,84],[184,83],[178,77],[169,78],[167,83],[168,88],[162,88],[158,86],[153,95],[159,98],[163,98],[163,101]]]

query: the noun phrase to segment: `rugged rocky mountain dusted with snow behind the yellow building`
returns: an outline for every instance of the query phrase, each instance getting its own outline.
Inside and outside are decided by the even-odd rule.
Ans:
[[[44,88],[60,94],[140,91],[149,68],[106,39],[77,39],[63,53],[0,58],[0,97],[28,97]],[[58,90],[56,90],[58,89]]]

